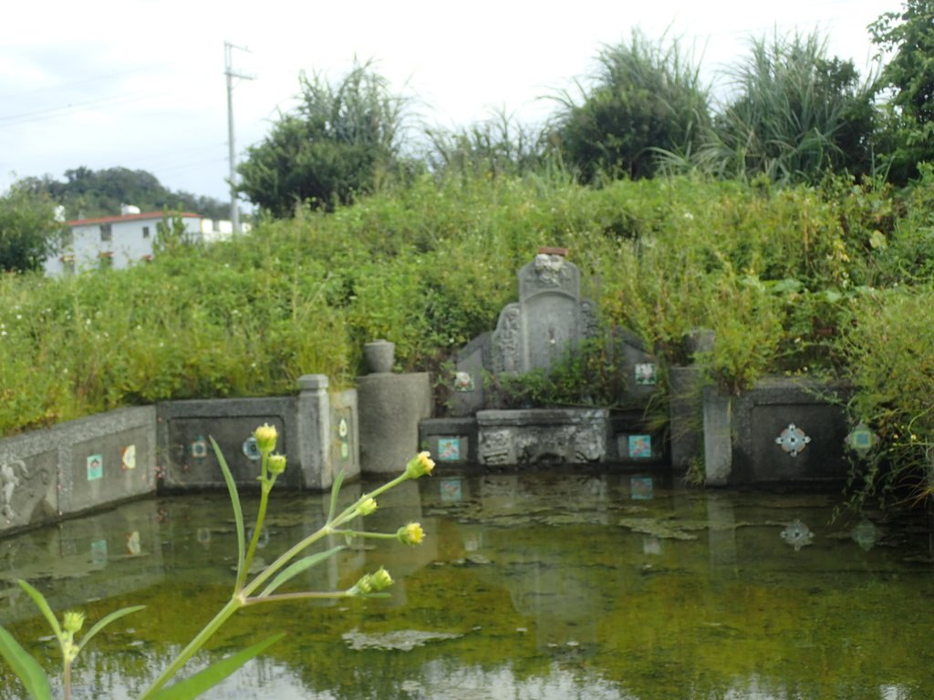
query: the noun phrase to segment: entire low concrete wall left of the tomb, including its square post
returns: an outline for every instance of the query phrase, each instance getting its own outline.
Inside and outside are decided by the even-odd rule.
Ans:
[[[278,451],[289,457],[278,481],[285,487],[323,490],[340,470],[358,476],[356,391],[330,392],[321,375],[302,377],[299,389],[294,397],[166,401],[0,440],[0,534],[161,487],[225,488],[209,437],[237,484],[256,487],[252,433],[263,423],[276,426]]]

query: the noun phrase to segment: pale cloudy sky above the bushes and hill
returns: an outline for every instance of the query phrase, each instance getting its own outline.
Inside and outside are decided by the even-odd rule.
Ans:
[[[262,142],[295,105],[299,76],[337,81],[372,60],[414,123],[541,123],[602,47],[677,38],[703,76],[724,72],[751,36],[828,38],[865,73],[867,25],[900,0],[46,0],[7,4],[0,25],[0,192],[79,166],[145,170],[173,190],[229,200],[224,43],[233,49],[234,150]],[[117,212],[115,212],[117,214]]]

